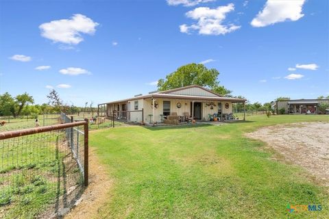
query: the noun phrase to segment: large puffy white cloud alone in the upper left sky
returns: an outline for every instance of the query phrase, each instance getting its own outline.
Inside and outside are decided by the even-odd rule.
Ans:
[[[70,19],[42,23],[41,36],[53,42],[78,44],[84,40],[81,34],[94,34],[98,23],[83,14],[73,14]]]

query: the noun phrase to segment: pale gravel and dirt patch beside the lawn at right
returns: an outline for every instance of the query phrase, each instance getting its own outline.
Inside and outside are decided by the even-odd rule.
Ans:
[[[306,168],[329,187],[329,123],[276,125],[246,136],[266,142],[284,160]]]

